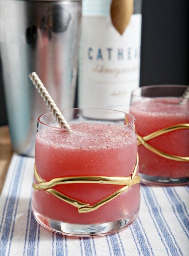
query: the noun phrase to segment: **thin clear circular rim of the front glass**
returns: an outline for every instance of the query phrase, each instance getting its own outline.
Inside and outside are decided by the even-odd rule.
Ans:
[[[134,122],[135,122],[135,117],[132,115],[132,114],[130,114],[130,113],[127,113],[127,112],[124,112],[124,111],[120,111],[120,110],[114,110],[114,109],[103,109],[103,108],[69,108],[69,109],[62,109],[62,110],[60,110],[61,112],[62,111],[66,111],[66,110],[87,110],[87,109],[93,109],[93,110],[108,110],[108,111],[114,111],[114,112],[119,112],[119,113],[123,113],[123,114],[127,114],[127,115],[129,115],[129,116],[131,116],[132,117],[132,121],[131,122],[129,122],[128,124],[124,124],[124,125],[121,125],[121,126],[116,126],[116,127],[110,127],[110,128],[105,128],[105,129],[66,129],[66,128],[61,128],[61,127],[55,127],[55,126],[52,126],[52,125],[49,125],[49,124],[45,124],[45,123],[43,123],[40,119],[42,118],[42,116],[45,116],[45,115],[48,115],[48,114],[52,114],[52,112],[50,111],[50,112],[47,112],[47,113],[44,113],[44,114],[42,114],[42,115],[40,115],[39,117],[38,117],[38,119],[37,119],[37,122],[38,123],[40,123],[40,124],[42,124],[42,125],[45,125],[45,126],[48,126],[48,127],[51,127],[51,128],[56,128],[56,129],[61,129],[61,130],[65,130],[65,131],[70,131],[70,130],[73,130],[73,131],[105,131],[105,130],[110,130],[110,129],[118,129],[118,128],[122,128],[122,127],[126,127],[126,126],[129,126],[129,125],[131,125],[131,124],[134,124]],[[52,116],[53,116],[53,114],[52,114]],[[54,116],[53,116],[54,117]],[[124,118],[123,118],[124,119]],[[123,120],[123,119],[118,119],[118,120]],[[92,118],[91,118],[91,120],[92,120]],[[97,118],[95,118],[94,119],[94,122],[95,121],[110,121],[109,119],[107,119],[107,120],[105,120],[104,118],[103,119],[97,119]],[[112,121],[113,120],[115,120],[115,119],[112,119]],[[117,121],[118,121],[117,120]]]

